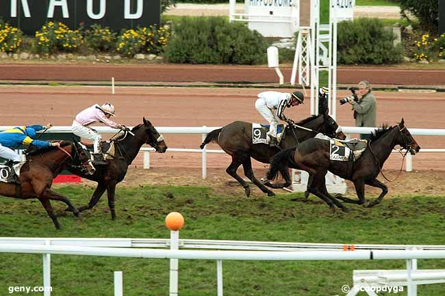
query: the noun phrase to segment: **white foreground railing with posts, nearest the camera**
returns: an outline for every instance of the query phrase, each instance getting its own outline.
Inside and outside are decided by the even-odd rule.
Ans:
[[[150,249],[147,247],[151,247]],[[155,250],[153,247],[170,248]],[[179,250],[179,249],[197,250]],[[206,250],[203,250],[206,249]],[[344,252],[348,251],[348,252]],[[409,295],[416,295],[417,259],[445,258],[445,245],[342,245],[316,243],[275,243],[264,241],[211,241],[179,239],[179,231],[170,231],[170,239],[81,239],[81,238],[0,238],[0,252],[42,254],[43,286],[51,286],[51,254],[168,258],[170,295],[177,295],[178,259],[216,260],[217,295],[223,296],[222,260],[407,260]],[[123,295],[123,274],[114,273],[115,295]],[[441,275],[438,277],[443,280]],[[423,284],[428,284],[425,282]],[[44,291],[51,295],[50,290]]]

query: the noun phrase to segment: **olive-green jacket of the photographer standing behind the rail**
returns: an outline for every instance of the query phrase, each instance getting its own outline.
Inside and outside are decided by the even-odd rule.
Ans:
[[[355,126],[374,127],[376,125],[377,100],[368,92],[358,102],[351,102],[354,110]]]

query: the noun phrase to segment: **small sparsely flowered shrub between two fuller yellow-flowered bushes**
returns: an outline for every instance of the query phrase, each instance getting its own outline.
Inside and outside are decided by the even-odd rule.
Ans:
[[[95,51],[111,51],[116,43],[116,33],[98,24],[91,25],[84,38],[87,46]]]

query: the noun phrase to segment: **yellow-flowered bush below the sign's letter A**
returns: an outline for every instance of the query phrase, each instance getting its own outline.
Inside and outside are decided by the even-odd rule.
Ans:
[[[71,30],[63,23],[48,22],[36,31],[34,50],[38,53],[55,53],[57,51],[74,52],[82,44],[79,30]]]

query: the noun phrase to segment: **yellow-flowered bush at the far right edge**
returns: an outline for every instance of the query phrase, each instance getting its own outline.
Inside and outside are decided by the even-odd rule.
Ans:
[[[414,42],[414,58],[418,61],[433,61],[445,58],[445,33],[431,38],[429,34],[422,35],[420,40]]]

